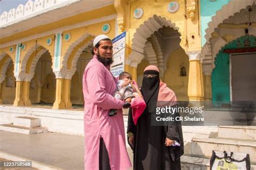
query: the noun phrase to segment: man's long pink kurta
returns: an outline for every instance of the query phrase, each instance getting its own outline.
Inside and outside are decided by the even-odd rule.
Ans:
[[[110,70],[93,56],[83,76],[86,170],[99,169],[100,137],[103,138],[109,153],[111,169],[131,167],[125,145],[123,102],[112,97],[116,88]],[[109,109],[118,109],[117,115],[110,117]]]

